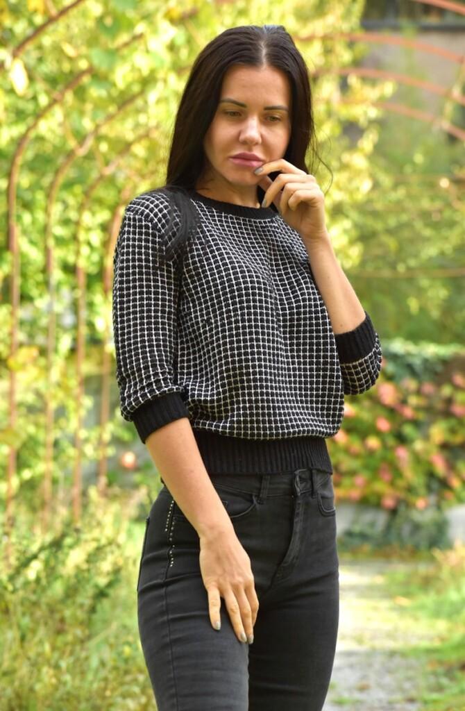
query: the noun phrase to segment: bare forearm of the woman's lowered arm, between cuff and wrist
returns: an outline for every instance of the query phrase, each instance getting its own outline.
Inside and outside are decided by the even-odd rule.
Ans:
[[[159,427],[149,434],[145,444],[171,496],[200,538],[233,530],[187,417]]]

